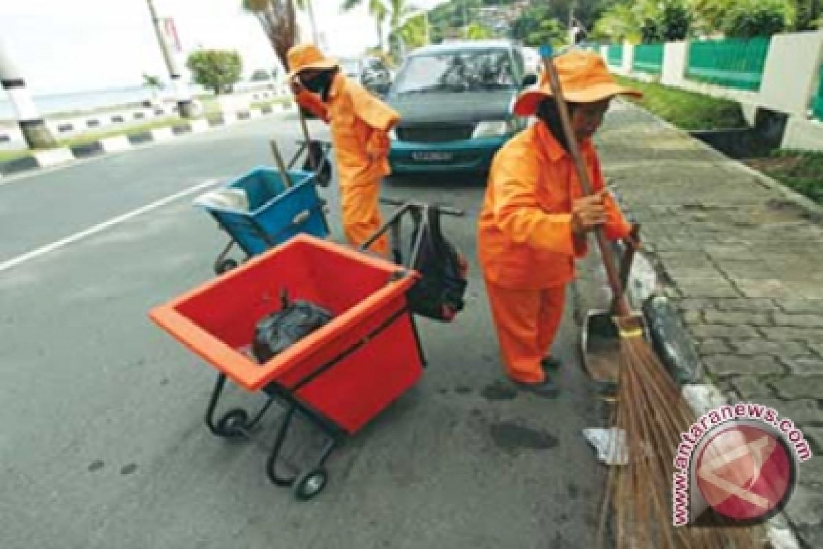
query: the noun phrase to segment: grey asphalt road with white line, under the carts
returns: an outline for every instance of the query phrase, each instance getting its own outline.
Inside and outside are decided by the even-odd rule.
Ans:
[[[567,311],[560,398],[504,382],[476,262],[481,180],[385,185],[467,211],[444,230],[472,263],[468,304],[420,322],[423,379],[332,455],[321,495],[268,482],[277,413],[253,440],[210,435],[215,370],[146,312],[213,277],[226,236],[191,200],[271,164],[269,138],[290,154],[298,132],[259,119],[0,184],[0,547],[592,546],[604,474],[580,435],[600,421],[578,330]]]

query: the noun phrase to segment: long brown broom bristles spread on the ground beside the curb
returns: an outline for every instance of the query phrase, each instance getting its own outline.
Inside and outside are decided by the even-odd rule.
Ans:
[[[617,549],[764,547],[757,528],[733,525],[675,528],[672,524],[674,458],[680,434],[695,422],[695,414],[642,335],[632,333],[626,337],[623,334],[619,367],[613,422],[618,432],[625,432],[629,462],[611,466],[609,471],[599,539],[604,539],[611,518],[611,533]]]

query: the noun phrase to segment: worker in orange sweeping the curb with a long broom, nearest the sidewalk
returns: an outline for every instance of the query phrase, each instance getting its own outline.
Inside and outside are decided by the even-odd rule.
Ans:
[[[478,221],[481,269],[506,374],[548,397],[557,387],[546,370],[560,365],[551,344],[574,260],[587,252],[587,233],[597,226],[610,240],[632,233],[604,188],[591,137],[615,95],[640,95],[618,86],[597,54],[573,50],[555,66],[594,194],[583,196],[544,73],[541,86],[514,105],[515,114],[537,122],[497,152]]]

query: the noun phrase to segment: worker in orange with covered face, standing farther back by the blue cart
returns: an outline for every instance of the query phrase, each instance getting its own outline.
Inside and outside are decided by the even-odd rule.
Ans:
[[[288,74],[297,102],[329,124],[340,183],[343,232],[359,246],[382,224],[378,209],[380,180],[388,166],[388,131],[400,115],[340,72],[337,59],[313,44],[289,50]],[[370,249],[388,255],[381,236]]]

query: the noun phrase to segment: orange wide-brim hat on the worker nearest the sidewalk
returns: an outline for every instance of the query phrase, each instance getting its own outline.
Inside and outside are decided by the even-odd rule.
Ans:
[[[563,98],[570,103],[595,103],[614,95],[643,95],[637,90],[618,85],[598,54],[572,50],[554,58],[553,63]],[[552,95],[549,75],[544,71],[539,87],[520,94],[514,103],[514,114],[531,116],[537,111],[537,105]]]

